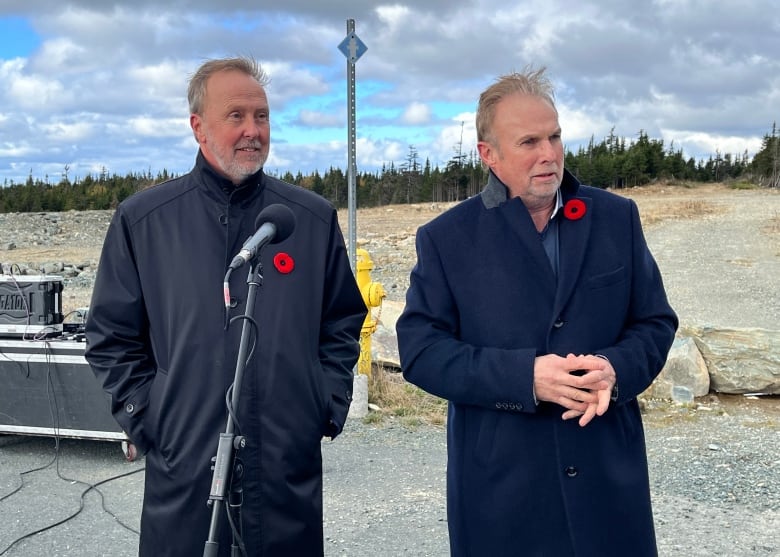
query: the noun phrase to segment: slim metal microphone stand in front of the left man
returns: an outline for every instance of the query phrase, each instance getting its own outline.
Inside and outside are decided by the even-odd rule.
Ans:
[[[254,321],[251,317],[251,311],[255,306],[257,289],[263,284],[263,266],[258,262],[255,266],[250,260],[249,275],[247,284],[249,290],[246,298],[246,307],[244,308],[243,326],[241,328],[241,343],[238,348],[238,357],[236,359],[236,372],[233,379],[231,400],[228,406],[227,423],[224,433],[219,434],[219,445],[217,446],[217,456],[212,458],[214,471],[211,480],[211,491],[209,493],[208,506],[211,507],[211,524],[209,525],[209,537],[203,548],[203,557],[218,557],[219,554],[219,526],[225,504],[225,492],[230,486],[228,497],[229,508],[237,509],[238,520],[234,524],[231,520],[233,530],[233,544],[231,545],[231,556],[240,557],[239,550],[243,548],[241,541],[241,502],[244,466],[241,459],[238,458],[238,452],[246,446],[246,438],[242,435],[235,435],[235,422],[238,420],[238,402],[241,395],[241,382],[244,378],[244,369],[246,368],[246,355],[249,351],[249,335]],[[231,272],[230,270],[228,272]],[[227,282],[228,277],[225,281]],[[227,398],[227,397],[226,397]],[[230,518],[230,517],[228,517]],[[239,544],[241,547],[239,547]]]

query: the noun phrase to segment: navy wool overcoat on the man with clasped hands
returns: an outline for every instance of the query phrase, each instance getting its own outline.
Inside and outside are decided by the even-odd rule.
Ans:
[[[530,214],[492,175],[417,233],[397,323],[407,380],[450,401],[454,556],[656,554],[636,396],[660,372],[677,317],[635,203],[568,172],[556,277]],[[602,354],[618,399],[586,427],[533,394],[534,358]]]

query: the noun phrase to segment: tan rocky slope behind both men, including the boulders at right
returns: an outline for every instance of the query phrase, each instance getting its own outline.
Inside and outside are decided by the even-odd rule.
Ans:
[[[780,192],[653,186],[621,194],[639,205],[681,321],[674,369],[657,382],[655,394],[668,397],[675,384],[693,396],[711,389],[780,394]],[[397,359],[395,318],[415,261],[415,232],[450,206],[358,211],[358,243],[372,259],[372,280],[387,294],[383,307],[373,310],[380,321],[376,349],[391,364]],[[3,273],[60,275],[66,315],[88,306],[111,215],[0,214]],[[339,216],[346,233],[346,211]]]

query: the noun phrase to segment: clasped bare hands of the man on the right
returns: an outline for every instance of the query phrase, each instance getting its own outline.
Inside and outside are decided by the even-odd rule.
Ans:
[[[607,411],[616,380],[612,364],[598,356],[548,354],[534,362],[537,400],[560,404],[566,408],[562,418],[579,417],[582,427]]]

